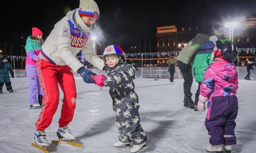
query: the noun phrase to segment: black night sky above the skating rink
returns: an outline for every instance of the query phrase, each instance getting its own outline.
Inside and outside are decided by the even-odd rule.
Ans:
[[[255,0],[95,0],[100,18],[92,27],[98,46],[120,44],[126,53],[131,46],[151,41],[156,51],[156,27],[177,25],[181,27],[223,26],[230,19],[256,17]],[[20,55],[19,48],[31,35],[31,28],[43,31],[43,39],[67,11],[79,7],[79,0],[10,1],[1,5],[0,49],[7,43],[7,55],[13,44],[13,55]],[[23,37],[23,38],[21,38]],[[152,43],[153,42],[153,43]],[[103,48],[104,49],[104,48]]]

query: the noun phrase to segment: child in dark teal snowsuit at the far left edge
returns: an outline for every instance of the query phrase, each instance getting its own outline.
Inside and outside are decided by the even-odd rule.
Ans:
[[[8,62],[7,56],[3,55],[0,60],[0,93],[3,93],[4,84],[6,86],[7,91],[13,92],[9,71],[11,73],[12,78],[14,78],[12,66]]]

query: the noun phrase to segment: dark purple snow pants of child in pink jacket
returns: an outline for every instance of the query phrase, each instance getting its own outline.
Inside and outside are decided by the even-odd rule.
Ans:
[[[208,102],[211,105],[211,103]],[[208,106],[209,108],[210,106]],[[236,95],[212,97],[212,106],[209,120],[205,119],[210,144],[232,145],[236,144],[236,116],[238,101]]]

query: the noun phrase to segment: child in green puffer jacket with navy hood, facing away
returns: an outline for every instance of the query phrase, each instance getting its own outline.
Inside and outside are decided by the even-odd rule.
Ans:
[[[198,88],[195,94],[195,107],[194,111],[197,111],[198,97],[200,95],[200,85],[204,81],[205,69],[213,62],[212,61],[212,51],[215,47],[215,44],[212,41],[207,41],[201,45],[201,51],[196,54],[194,63],[193,63],[193,72],[198,83]]]

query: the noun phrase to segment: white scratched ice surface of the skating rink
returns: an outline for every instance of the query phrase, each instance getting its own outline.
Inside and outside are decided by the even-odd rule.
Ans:
[[[38,109],[28,109],[28,79],[11,79],[14,93],[3,88],[0,94],[0,153],[36,153],[34,142]],[[183,107],[183,79],[136,78],[135,91],[140,99],[141,126],[148,136],[144,153],[205,153],[209,144],[204,126],[206,112],[194,112]],[[239,111],[236,119],[237,144],[233,153],[256,152],[256,81],[239,80],[237,98]],[[84,148],[50,143],[48,150],[58,153],[130,153],[130,149],[112,147],[118,140],[115,112],[109,88],[100,90],[95,84],[85,84],[76,77],[77,101],[73,121],[68,125]],[[197,83],[193,82],[193,99]],[[52,124],[45,130],[48,142],[57,140],[61,100]]]

